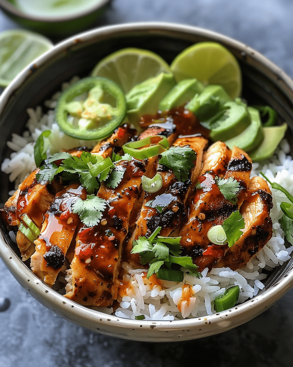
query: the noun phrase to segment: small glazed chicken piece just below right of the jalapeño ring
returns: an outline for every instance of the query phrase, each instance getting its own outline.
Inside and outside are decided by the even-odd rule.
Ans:
[[[122,151],[122,145],[133,138],[135,134],[136,130],[131,129],[128,124],[124,124],[118,127],[109,138],[97,143],[91,153],[98,153],[103,158],[111,158],[112,153],[118,154]]]

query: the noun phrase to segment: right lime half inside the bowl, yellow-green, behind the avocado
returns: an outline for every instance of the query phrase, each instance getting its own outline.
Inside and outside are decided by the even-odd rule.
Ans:
[[[224,46],[216,42],[200,42],[183,50],[170,66],[177,81],[196,78],[205,86],[222,86],[234,99],[242,88],[238,61]]]

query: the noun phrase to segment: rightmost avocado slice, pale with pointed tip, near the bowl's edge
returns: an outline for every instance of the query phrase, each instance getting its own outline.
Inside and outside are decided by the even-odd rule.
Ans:
[[[287,130],[287,124],[284,122],[281,126],[263,127],[264,139],[262,143],[249,152],[253,162],[270,158],[273,154]]]

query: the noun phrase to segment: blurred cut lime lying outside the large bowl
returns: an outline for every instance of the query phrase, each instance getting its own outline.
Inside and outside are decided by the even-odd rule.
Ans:
[[[26,30],[0,33],[0,86],[7,87],[12,79],[53,44],[46,37]]]

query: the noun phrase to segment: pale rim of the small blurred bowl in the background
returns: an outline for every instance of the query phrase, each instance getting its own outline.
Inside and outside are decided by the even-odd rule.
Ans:
[[[85,10],[73,13],[71,15],[61,15],[61,16],[51,16],[51,17],[30,15],[18,9],[16,6],[14,6],[13,4],[11,4],[10,2],[6,0],[0,0],[0,6],[3,7],[5,11],[19,18],[27,19],[27,20],[34,21],[34,22],[59,23],[59,22],[67,22],[67,21],[71,21],[74,19],[85,17],[86,15],[89,15],[93,13],[94,11],[99,10],[100,8],[105,6],[109,1],[111,0],[98,0],[97,4],[90,6],[86,8]]]

